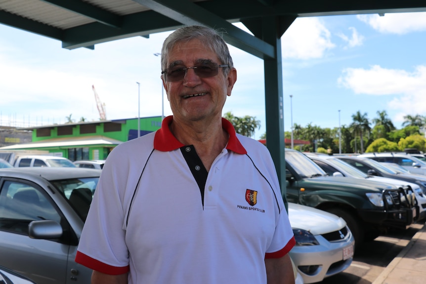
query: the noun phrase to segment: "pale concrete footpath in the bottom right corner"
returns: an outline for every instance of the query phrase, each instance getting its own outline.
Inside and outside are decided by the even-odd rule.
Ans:
[[[426,283],[426,224],[372,284]]]

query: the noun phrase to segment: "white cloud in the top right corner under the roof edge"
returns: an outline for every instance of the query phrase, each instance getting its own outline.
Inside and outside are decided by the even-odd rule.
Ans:
[[[357,15],[357,18],[384,34],[426,31],[426,12]]]

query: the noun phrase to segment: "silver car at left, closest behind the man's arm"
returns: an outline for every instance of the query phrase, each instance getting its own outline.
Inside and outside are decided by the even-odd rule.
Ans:
[[[0,170],[0,265],[38,284],[88,284],[74,261],[100,170],[22,167]]]

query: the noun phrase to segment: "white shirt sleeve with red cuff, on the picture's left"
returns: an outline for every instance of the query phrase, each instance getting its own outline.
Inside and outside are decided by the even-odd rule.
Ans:
[[[126,162],[120,149],[114,149],[102,169],[93,201],[79,241],[76,262],[106,274],[129,270],[128,248],[123,228],[125,209],[122,199],[126,187]],[[117,166],[119,165],[119,166]]]

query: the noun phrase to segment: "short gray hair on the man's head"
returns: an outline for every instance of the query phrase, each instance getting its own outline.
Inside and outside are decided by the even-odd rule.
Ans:
[[[221,62],[219,64],[227,64],[229,68],[222,68],[225,76],[228,75],[229,70],[234,67],[232,57],[229,54],[228,45],[219,35],[225,31],[213,30],[212,28],[201,26],[187,26],[182,27],[171,33],[163,42],[161,49],[161,69],[164,71],[169,59],[170,50],[179,42],[188,42],[194,39],[202,41],[206,47],[210,48]]]

